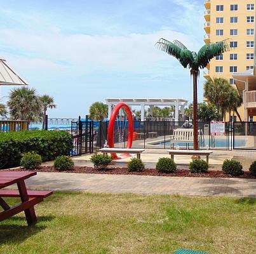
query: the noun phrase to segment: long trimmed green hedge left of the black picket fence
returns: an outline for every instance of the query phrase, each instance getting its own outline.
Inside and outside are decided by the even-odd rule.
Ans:
[[[71,134],[67,131],[19,131],[0,133],[0,169],[20,165],[22,154],[39,154],[42,161],[53,161],[57,156],[69,155]]]

